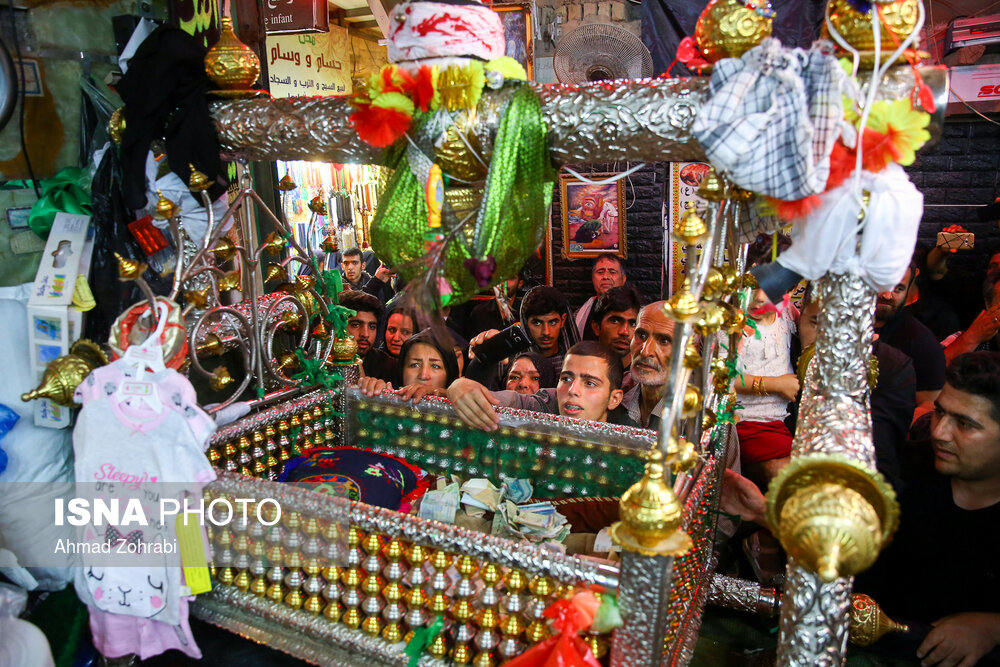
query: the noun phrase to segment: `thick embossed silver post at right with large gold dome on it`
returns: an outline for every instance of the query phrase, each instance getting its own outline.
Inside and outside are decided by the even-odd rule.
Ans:
[[[868,413],[875,290],[854,274],[816,281],[816,352],[806,375],[792,462],[771,482],[768,521],[789,553],[778,664],[840,665],[853,575],[898,522],[875,470]]]

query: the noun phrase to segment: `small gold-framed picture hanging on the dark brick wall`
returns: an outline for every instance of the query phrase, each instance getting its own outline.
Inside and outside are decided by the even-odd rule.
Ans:
[[[601,181],[614,174],[589,174]],[[622,180],[606,185],[585,183],[559,175],[562,202],[563,254],[568,258],[596,255],[626,256],[625,186]]]

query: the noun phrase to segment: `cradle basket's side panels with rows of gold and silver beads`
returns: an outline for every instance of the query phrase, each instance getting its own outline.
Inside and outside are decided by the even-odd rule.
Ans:
[[[436,474],[526,477],[540,497],[617,496],[641,476],[655,441],[640,429],[501,412],[501,428],[486,434],[465,427],[445,401],[416,408],[347,388],[314,391],[221,429],[209,454],[222,470],[207,495],[277,498],[283,516],[270,528],[236,521],[213,529],[214,588],[198,597],[194,615],[317,664],[357,664],[363,656],[401,665],[408,660],[401,643],[406,633],[440,613],[453,630],[430,647],[431,654],[487,665],[548,636],[540,614],[557,596],[578,586],[616,594],[621,564],[267,479],[309,439],[313,445],[367,445]],[[641,608],[655,604],[654,595],[637,597],[637,608],[623,610],[644,619],[666,615],[665,664],[686,662],[697,639],[728,431],[716,427],[706,437],[708,455],[677,480],[695,547],[674,564],[669,608]],[[633,572],[633,585],[654,585],[648,576]],[[598,656],[612,650],[616,664],[640,664],[635,647],[650,649],[653,634],[620,628],[586,641]],[[443,664],[432,656],[421,662]]]

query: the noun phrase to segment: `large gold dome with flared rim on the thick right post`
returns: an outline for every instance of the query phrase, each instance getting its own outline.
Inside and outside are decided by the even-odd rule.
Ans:
[[[899,523],[881,474],[831,454],[792,459],[768,487],[767,520],[781,546],[824,581],[871,566]]]

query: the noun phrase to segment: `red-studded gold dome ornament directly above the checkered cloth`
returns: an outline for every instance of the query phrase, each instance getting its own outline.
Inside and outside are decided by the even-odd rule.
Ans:
[[[698,17],[694,38],[709,62],[739,58],[771,36],[767,0],[712,0]]]

